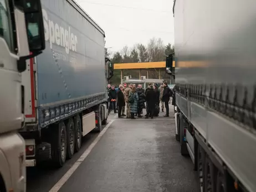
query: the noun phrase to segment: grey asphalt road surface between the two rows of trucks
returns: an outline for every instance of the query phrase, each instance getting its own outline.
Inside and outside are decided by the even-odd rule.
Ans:
[[[164,113],[160,113],[163,116]],[[182,157],[175,140],[173,118],[114,120],[60,192],[136,192],[197,190],[196,173],[190,158]],[[28,192],[48,192],[98,136],[90,133],[83,147],[63,168],[30,168]]]

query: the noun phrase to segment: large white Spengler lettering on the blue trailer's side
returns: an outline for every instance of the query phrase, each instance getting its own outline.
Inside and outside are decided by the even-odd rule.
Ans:
[[[78,44],[78,37],[71,33],[70,26],[68,29],[61,27],[58,23],[55,23],[48,19],[48,14],[45,9],[42,9],[44,19],[44,37],[46,41],[49,41],[50,48],[53,48],[53,43],[59,46],[63,46],[66,53],[69,54],[69,50],[76,51],[76,45]]]

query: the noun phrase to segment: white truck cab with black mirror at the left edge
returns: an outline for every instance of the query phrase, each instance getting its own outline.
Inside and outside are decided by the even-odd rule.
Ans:
[[[43,49],[40,0],[1,1],[0,191],[25,191],[25,143],[18,133],[24,119],[21,72]]]

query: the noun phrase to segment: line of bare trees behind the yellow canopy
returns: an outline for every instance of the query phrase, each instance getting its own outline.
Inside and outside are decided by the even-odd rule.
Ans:
[[[165,61],[166,56],[174,52],[174,46],[168,43],[163,44],[161,38],[151,38],[147,45],[135,44],[132,47],[124,46],[120,51],[110,54],[105,48],[105,56],[112,63],[142,63]]]

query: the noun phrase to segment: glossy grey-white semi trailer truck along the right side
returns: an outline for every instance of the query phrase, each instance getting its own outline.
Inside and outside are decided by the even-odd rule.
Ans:
[[[256,191],[256,1],[176,0],[176,139],[200,191]]]

